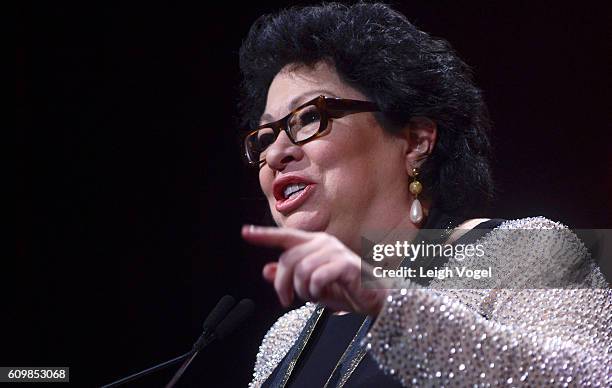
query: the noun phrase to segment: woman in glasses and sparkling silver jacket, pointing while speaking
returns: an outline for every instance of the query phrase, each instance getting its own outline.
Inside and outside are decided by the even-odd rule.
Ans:
[[[577,237],[474,218],[489,124],[445,41],[385,5],[326,4],[258,19],[240,63],[244,151],[278,225],[243,237],[283,250],[263,276],[284,306],[309,302],[265,336],[252,386],[612,382],[611,296]],[[426,229],[481,244],[496,276],[363,285],[364,236]]]

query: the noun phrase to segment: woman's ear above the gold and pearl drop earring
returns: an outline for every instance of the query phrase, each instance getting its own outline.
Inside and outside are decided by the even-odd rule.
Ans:
[[[418,168],[432,153],[438,136],[438,126],[427,117],[417,116],[410,119],[407,128],[409,137],[406,149],[406,171]]]

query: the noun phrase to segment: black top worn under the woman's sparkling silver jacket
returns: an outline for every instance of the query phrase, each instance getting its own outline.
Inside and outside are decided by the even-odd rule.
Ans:
[[[478,224],[474,229],[461,236],[456,243],[466,244],[476,241],[489,229],[500,225],[504,220],[493,219]],[[442,229],[455,227],[459,222],[444,214],[430,214],[428,222],[423,229]],[[439,265],[440,263],[436,263]],[[364,323],[365,316],[348,313],[334,315],[325,311],[315,327],[306,347],[300,355],[298,362],[287,382],[287,387],[323,387],[330,379],[330,387],[335,386],[339,378],[339,369],[336,368],[355,334]],[[357,339],[360,341],[361,339]],[[294,345],[295,346],[295,345]],[[287,357],[287,356],[285,356]],[[279,373],[280,362],[264,382],[263,387],[272,387],[272,381]],[[334,369],[334,376],[330,378]],[[401,384],[389,375],[384,374],[378,364],[366,353],[357,368],[350,375],[345,387],[401,387]]]

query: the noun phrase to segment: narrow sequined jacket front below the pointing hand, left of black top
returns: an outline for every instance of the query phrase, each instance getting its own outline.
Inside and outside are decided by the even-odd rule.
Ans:
[[[249,387],[261,385],[272,373],[293,346],[315,308],[315,304],[306,303],[298,309],[287,312],[270,327],[259,346],[253,380]]]

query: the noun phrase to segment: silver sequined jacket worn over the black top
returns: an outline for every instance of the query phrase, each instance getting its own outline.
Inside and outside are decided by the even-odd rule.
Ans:
[[[535,217],[506,221],[479,243],[503,274],[486,289],[447,278],[390,291],[365,338],[380,368],[405,386],[612,386],[612,293],[578,237]],[[544,273],[552,283],[529,288]],[[290,311],[268,331],[251,387],[283,359],[314,308]]]

